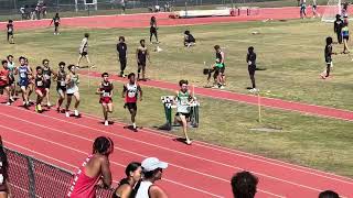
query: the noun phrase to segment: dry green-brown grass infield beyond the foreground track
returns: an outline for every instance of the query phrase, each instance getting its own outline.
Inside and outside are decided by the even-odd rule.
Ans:
[[[197,40],[197,46],[184,48],[182,32],[190,29]],[[135,50],[140,38],[148,38],[147,29],[64,29],[54,36],[51,29],[19,31],[15,45],[2,45],[1,56],[25,55],[34,67],[43,58],[50,58],[52,67],[60,61],[76,63],[78,45],[84,32],[90,33],[89,53],[97,70],[117,74],[115,52],[117,36],[125,35],[129,47],[128,72],[136,72]],[[257,31],[259,34],[253,35]],[[332,35],[332,24],[315,20],[288,22],[223,23],[200,26],[160,28],[161,53],[151,52],[152,64],[148,75],[153,79],[179,81],[189,79],[202,86],[203,62],[214,61],[213,45],[220,44],[226,53],[227,89],[247,92],[249,86],[245,55],[254,45],[258,55],[258,66],[267,70],[257,73],[257,85],[268,97],[325,105],[352,110],[352,62],[349,56],[334,58],[333,78],[319,79],[324,67],[324,37]],[[1,43],[6,43],[4,35]],[[152,50],[152,45],[149,45]],[[343,46],[334,46],[335,52]],[[88,90],[87,79],[82,81],[82,110],[100,116],[94,85]],[[94,88],[93,88],[94,87]],[[126,110],[119,98],[121,85],[116,84],[114,117],[128,122]],[[170,95],[158,89],[145,89],[146,98],[139,105],[139,122],[145,127],[164,123],[160,96]],[[54,97],[55,98],[55,97]],[[308,117],[295,112],[265,109],[264,122],[258,123],[257,108],[237,102],[200,98],[201,128],[191,136],[196,140],[238,148],[250,153],[284,160],[353,177],[351,145],[352,123],[331,119]],[[225,111],[227,110],[227,111]],[[216,124],[212,124],[216,123]],[[260,132],[250,129],[282,128],[280,132]],[[175,132],[181,134],[180,132]]]

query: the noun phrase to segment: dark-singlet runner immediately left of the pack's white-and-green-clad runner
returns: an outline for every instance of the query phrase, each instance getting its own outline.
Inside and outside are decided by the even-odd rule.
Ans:
[[[56,91],[58,94],[57,105],[56,105],[56,111],[61,112],[62,103],[65,99],[66,95],[66,72],[65,72],[65,63],[61,62],[58,63],[58,72],[57,74],[54,74],[54,79],[57,81],[56,85]]]

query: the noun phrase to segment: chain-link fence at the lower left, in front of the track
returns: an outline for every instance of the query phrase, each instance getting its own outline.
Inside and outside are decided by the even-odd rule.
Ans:
[[[13,197],[66,197],[73,174],[19,152],[4,148]],[[97,198],[110,198],[111,189],[97,188]]]

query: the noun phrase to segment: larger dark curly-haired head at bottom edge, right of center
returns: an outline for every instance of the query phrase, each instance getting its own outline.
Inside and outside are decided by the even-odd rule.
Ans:
[[[232,177],[234,198],[254,198],[258,178],[249,172],[239,172]]]

